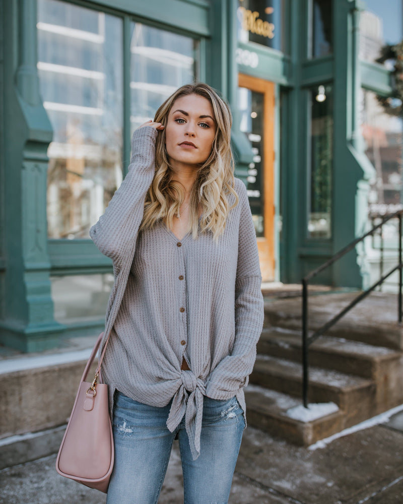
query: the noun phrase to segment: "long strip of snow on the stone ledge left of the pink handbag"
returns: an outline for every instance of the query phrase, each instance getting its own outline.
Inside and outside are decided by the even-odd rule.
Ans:
[[[19,357],[17,359],[5,359],[0,361],[0,374],[36,369],[38,367],[55,366],[90,358],[92,348],[76,350],[74,352],[54,353],[50,355],[38,355],[35,357]]]

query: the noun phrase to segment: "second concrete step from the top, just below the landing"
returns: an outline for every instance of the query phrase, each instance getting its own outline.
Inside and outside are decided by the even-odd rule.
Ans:
[[[257,352],[301,362],[301,332],[278,327],[264,328],[257,343]],[[309,347],[310,365],[372,380],[383,377],[396,362],[399,363],[400,358],[401,351],[331,336],[322,336]]]

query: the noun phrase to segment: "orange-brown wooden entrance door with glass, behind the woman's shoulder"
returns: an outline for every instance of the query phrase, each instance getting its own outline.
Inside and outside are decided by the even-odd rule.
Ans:
[[[264,282],[275,278],[274,124],[275,85],[239,74],[241,131],[254,151],[249,166],[248,197],[256,230],[260,270]]]

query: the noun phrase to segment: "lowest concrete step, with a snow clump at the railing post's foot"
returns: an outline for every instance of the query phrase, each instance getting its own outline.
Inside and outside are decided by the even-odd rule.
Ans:
[[[309,446],[345,428],[345,414],[334,404],[311,405],[320,408],[318,417],[304,421],[301,400],[256,385],[245,389],[248,425],[289,442]],[[334,411],[326,413],[328,407]],[[297,415],[295,415],[297,413]],[[302,411],[303,413],[303,411]],[[293,417],[294,416],[294,417]],[[295,418],[297,416],[297,418]]]

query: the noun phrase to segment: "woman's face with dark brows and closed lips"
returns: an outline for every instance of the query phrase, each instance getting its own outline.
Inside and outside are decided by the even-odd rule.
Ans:
[[[210,101],[190,94],[173,102],[165,127],[165,146],[174,171],[195,169],[210,156],[216,121]]]

